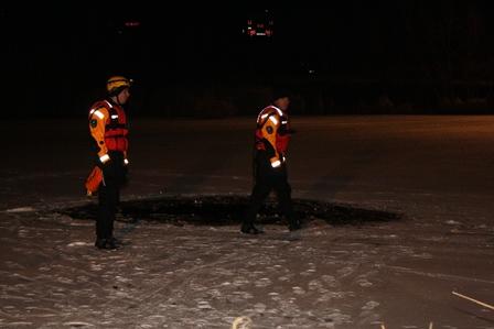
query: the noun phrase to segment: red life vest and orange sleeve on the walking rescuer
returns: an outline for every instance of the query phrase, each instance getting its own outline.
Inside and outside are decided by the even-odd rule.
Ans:
[[[286,153],[290,142],[288,133],[288,116],[275,106],[268,106],[257,116],[255,147],[271,153],[271,167],[276,168],[286,162]]]

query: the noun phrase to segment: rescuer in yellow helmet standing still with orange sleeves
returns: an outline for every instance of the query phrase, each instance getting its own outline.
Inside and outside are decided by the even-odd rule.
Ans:
[[[131,80],[112,76],[107,80],[108,97],[95,102],[89,110],[89,131],[97,152],[96,165],[103,172],[97,188],[98,213],[96,242],[98,249],[116,249],[114,221],[120,199],[120,188],[127,180],[128,124],[124,105],[130,97]]]

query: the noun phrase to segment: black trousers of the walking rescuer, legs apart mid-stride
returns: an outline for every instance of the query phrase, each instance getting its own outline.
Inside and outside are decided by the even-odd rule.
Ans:
[[[279,172],[277,172],[279,171]],[[244,217],[244,226],[254,224],[257,213],[271,191],[278,197],[281,211],[287,217],[289,226],[297,223],[291,201],[291,186],[288,184],[286,168],[261,169],[257,172],[256,184],[250,195],[250,205]]]

